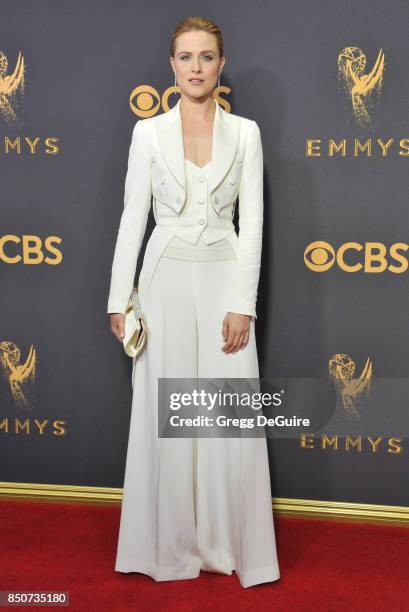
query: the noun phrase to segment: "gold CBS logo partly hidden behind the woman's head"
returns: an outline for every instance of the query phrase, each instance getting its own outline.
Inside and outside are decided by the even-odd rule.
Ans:
[[[217,88],[217,95],[213,96],[228,113],[231,110],[231,106],[227,100],[224,98],[219,98],[219,93],[230,93],[230,91],[230,87],[221,85]],[[151,85],[138,85],[138,87],[135,87],[135,89],[131,91],[131,95],[129,96],[129,106],[131,107],[132,112],[138,117],[143,119],[146,117],[153,117],[158,111],[160,111],[161,108],[165,112],[168,112],[171,108],[168,104],[170,96],[172,94],[179,93],[180,87],[175,87],[174,85],[168,87],[162,96],[160,96],[157,89]]]

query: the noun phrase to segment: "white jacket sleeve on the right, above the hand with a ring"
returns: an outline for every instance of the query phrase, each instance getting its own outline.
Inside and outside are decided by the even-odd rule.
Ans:
[[[239,187],[237,264],[227,310],[257,318],[263,234],[263,149],[255,121],[248,134]]]

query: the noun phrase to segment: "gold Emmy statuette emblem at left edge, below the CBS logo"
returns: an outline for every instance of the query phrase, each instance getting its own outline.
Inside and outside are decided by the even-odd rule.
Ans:
[[[20,363],[21,351],[9,340],[0,342],[0,367],[3,380],[9,384],[11,395],[16,404],[26,408],[29,404],[25,392],[29,383],[35,381],[36,352],[30,347],[27,359]]]

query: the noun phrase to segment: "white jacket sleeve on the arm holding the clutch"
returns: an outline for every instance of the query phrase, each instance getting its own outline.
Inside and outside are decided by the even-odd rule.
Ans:
[[[133,129],[125,178],[124,210],[111,271],[108,313],[125,314],[151,207],[151,160],[143,120]]]

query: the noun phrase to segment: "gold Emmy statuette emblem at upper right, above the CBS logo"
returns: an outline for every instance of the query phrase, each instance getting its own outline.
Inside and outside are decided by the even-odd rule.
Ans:
[[[355,120],[362,127],[374,125],[369,110],[372,107],[373,91],[376,89],[380,94],[383,87],[385,55],[382,49],[368,74],[364,73],[365,67],[365,53],[358,47],[346,47],[338,55],[338,80],[351,99]]]

